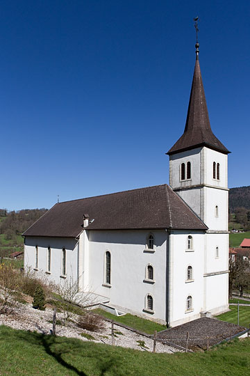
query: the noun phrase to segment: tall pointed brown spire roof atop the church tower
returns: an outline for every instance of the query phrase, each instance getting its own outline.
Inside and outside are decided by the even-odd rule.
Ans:
[[[227,148],[213,134],[208,117],[208,108],[201,79],[199,60],[195,63],[194,77],[188,105],[188,116],[185,123],[183,135],[167,152],[168,155],[175,154],[192,148],[207,146],[228,154]]]

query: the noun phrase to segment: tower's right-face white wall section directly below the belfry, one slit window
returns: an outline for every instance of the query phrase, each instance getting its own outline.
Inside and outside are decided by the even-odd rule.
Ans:
[[[228,230],[228,191],[204,187],[204,222],[209,230]],[[215,217],[218,206],[218,217]]]

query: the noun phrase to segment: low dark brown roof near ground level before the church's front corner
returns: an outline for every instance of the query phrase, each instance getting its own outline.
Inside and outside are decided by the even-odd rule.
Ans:
[[[185,347],[189,334],[188,350],[206,350],[217,343],[241,333],[246,328],[214,318],[199,318],[171,329],[160,331],[157,338]]]

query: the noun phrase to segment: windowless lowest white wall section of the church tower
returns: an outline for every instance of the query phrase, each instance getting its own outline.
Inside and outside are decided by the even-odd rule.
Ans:
[[[220,313],[228,308],[228,274],[204,277],[206,279],[206,310]]]

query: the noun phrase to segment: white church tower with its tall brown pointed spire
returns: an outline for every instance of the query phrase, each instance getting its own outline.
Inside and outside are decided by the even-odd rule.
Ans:
[[[204,235],[203,310],[217,313],[228,306],[229,151],[210,127],[198,42],[195,47],[196,61],[185,130],[167,152],[169,185],[208,226]]]

